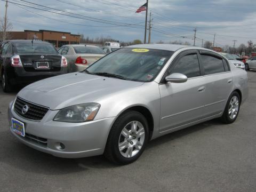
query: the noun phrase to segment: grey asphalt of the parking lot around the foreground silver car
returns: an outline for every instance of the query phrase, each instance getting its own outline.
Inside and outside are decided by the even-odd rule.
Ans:
[[[256,191],[256,71],[235,123],[218,119],[149,142],[130,165],[103,156],[64,159],[29,148],[9,131],[0,91],[0,191]]]

